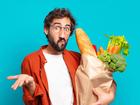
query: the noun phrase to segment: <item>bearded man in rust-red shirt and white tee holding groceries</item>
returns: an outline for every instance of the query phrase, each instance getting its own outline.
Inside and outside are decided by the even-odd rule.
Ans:
[[[65,49],[75,24],[67,9],[51,11],[44,20],[49,44],[25,57],[22,74],[8,77],[16,79],[14,90],[23,86],[26,105],[76,105],[75,72],[80,54]],[[109,93],[94,91],[98,96],[95,105],[107,105],[114,98],[115,85]]]

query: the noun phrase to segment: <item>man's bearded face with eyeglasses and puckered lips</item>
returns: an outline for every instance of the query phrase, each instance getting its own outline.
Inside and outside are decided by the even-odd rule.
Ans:
[[[58,52],[63,51],[71,33],[70,19],[54,19],[47,30],[49,44]]]

